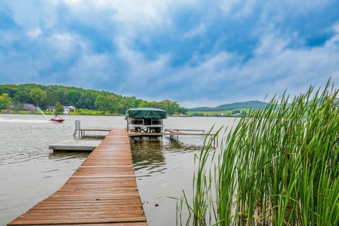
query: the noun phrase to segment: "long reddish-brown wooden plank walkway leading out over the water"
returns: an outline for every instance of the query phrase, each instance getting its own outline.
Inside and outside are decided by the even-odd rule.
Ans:
[[[147,225],[124,129],[114,129],[64,186],[8,225]]]

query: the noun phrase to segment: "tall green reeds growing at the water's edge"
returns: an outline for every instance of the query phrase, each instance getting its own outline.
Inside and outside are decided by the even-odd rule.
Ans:
[[[179,225],[339,225],[338,90],[313,87],[251,111],[196,156]]]

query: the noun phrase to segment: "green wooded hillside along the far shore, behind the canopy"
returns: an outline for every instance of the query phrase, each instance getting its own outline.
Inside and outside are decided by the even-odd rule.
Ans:
[[[166,110],[167,114],[186,114],[188,111],[171,100],[148,102],[136,97],[124,97],[107,91],[33,83],[0,85],[0,110],[9,107],[8,103],[13,107],[20,107],[24,103],[29,103],[41,109],[61,103],[64,106],[93,109],[112,114],[125,114],[127,109],[135,107],[157,107]]]

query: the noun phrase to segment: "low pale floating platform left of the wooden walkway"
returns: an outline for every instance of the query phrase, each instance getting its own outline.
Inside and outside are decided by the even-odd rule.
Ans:
[[[91,150],[94,150],[100,143],[101,141],[83,141],[83,140],[61,141],[59,143],[49,145],[49,149],[91,151]]]

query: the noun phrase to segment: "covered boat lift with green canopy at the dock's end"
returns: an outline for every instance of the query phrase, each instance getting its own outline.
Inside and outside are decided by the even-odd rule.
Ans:
[[[136,133],[163,133],[162,119],[167,112],[153,107],[138,107],[126,111],[127,131]]]

